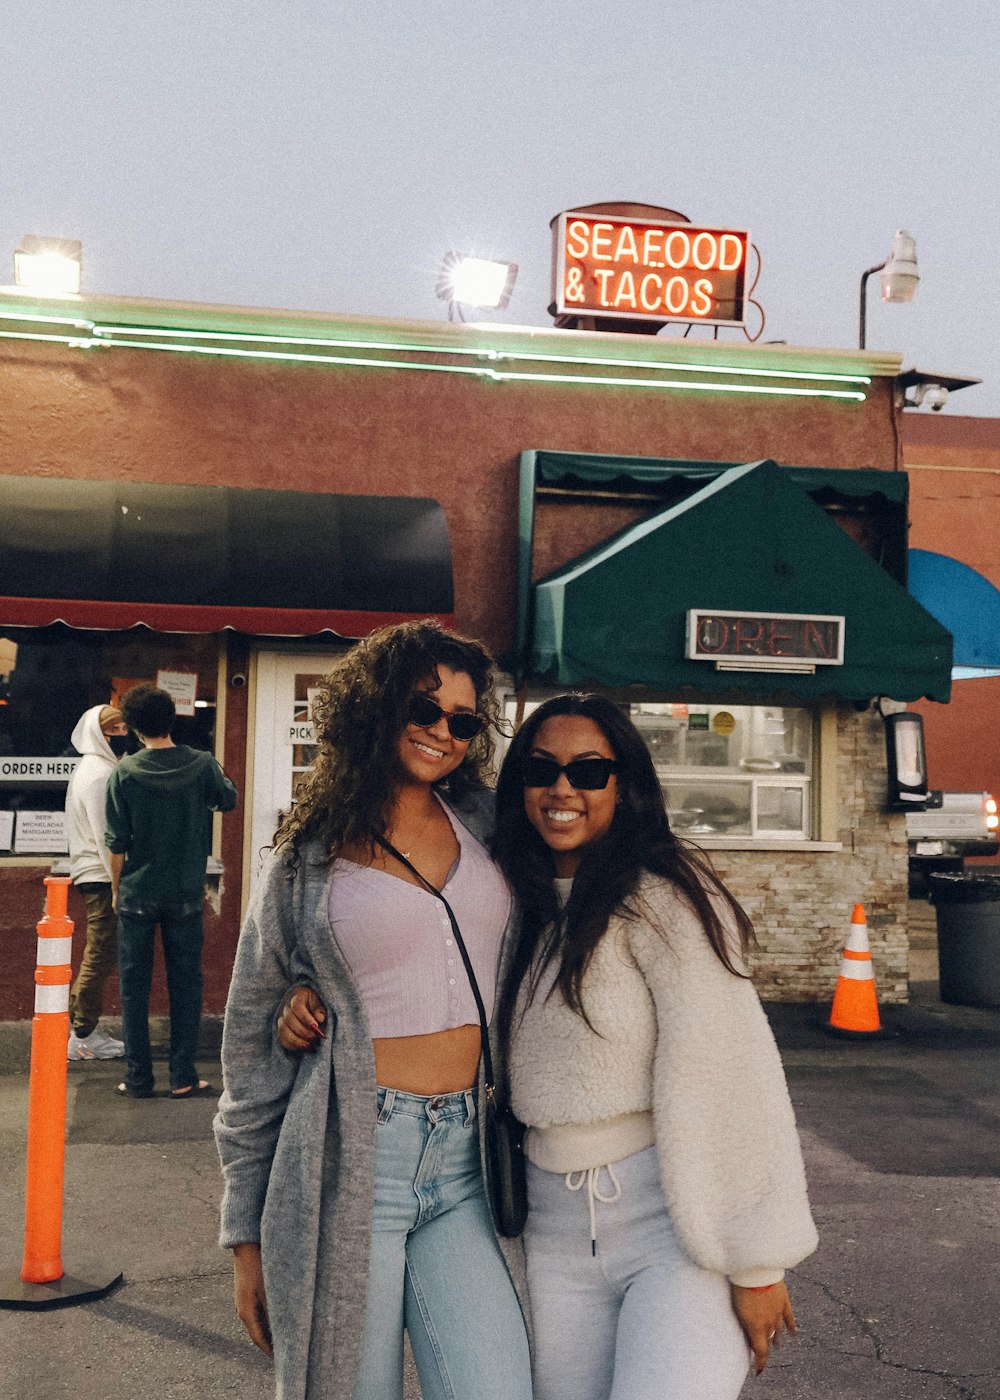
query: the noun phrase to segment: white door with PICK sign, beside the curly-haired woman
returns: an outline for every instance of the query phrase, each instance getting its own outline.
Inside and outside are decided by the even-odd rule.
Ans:
[[[262,651],[254,710],[251,885],[317,755],[310,701],[339,651]]]

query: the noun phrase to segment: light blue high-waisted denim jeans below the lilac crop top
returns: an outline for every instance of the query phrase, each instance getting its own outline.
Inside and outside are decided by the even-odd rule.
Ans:
[[[497,1245],[472,1092],[378,1091],[375,1208],[354,1400],[531,1400],[521,1308]]]

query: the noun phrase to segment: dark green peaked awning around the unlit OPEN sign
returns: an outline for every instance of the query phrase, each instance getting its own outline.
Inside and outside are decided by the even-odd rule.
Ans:
[[[662,692],[947,701],[951,633],[828,518],[789,469],[752,462],[720,472],[713,465],[713,479],[685,500],[534,585],[527,675]],[[840,482],[856,473],[836,475]],[[889,476],[885,484],[905,498],[905,480],[896,486]],[[721,672],[689,661],[692,608],[843,616],[843,665],[808,675]]]

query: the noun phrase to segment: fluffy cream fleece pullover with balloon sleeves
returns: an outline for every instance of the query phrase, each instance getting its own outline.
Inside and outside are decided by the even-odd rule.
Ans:
[[[731,1282],[775,1282],[817,1247],[784,1071],[752,983],[727,972],[669,882],[644,876],[640,917],[612,918],[583,981],[597,1035],[546,974],[521,988],[514,1112],[532,1127],[653,1110],[678,1236]],[[731,927],[727,906],[717,909]],[[734,963],[739,966],[738,953]]]

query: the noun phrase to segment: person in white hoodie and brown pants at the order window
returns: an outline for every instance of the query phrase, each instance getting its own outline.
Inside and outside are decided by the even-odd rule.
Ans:
[[[70,876],[87,904],[87,946],[70,990],[70,1060],[118,1060],[125,1044],[98,1026],[104,984],[118,967],[118,937],[112,909],[111,853],[104,844],[105,792],[129,731],[113,706],[95,704],[73,729],[81,755],[66,788],[66,839]]]

